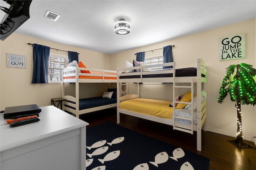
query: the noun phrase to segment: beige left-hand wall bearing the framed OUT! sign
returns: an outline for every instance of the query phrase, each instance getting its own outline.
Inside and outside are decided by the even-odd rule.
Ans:
[[[5,107],[9,106],[26,104],[48,106],[51,104],[51,98],[60,98],[62,95],[61,84],[31,84],[33,72],[33,47],[27,43],[37,43],[65,51],[76,51],[80,53],[79,61],[82,61],[87,67],[110,69],[109,55],[13,33],[4,41],[1,41],[0,44],[1,110],[4,110]],[[26,69],[6,67],[6,53],[26,55]],[[66,56],[68,55],[67,52],[56,51],[53,49],[50,50],[50,53]],[[68,87],[69,86],[70,94],[74,94],[74,90],[72,89],[73,85],[68,85]],[[106,84],[104,84],[102,88],[106,89],[107,87],[108,85],[106,86]],[[96,86],[95,84],[88,84],[85,88],[95,89]],[[101,87],[99,88],[101,89]],[[90,92],[87,92],[86,95],[89,97],[100,96],[103,94],[103,92],[102,94],[99,94],[101,91],[104,92],[104,90],[90,90]]]

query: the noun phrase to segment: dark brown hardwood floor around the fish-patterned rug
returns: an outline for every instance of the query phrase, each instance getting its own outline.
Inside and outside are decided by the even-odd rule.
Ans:
[[[107,121],[116,123],[116,108],[80,115],[80,119],[89,123],[87,128]],[[174,131],[172,126],[124,114],[121,114],[119,125],[210,158],[210,170],[256,170],[256,149],[253,142],[251,145],[254,148],[240,149],[227,141],[235,138],[202,131],[200,152],[196,150],[196,132],[191,135]]]

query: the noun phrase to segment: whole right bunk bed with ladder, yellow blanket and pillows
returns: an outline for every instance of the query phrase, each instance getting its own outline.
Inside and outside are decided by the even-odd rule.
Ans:
[[[152,67],[162,66],[171,66],[172,68],[150,71],[150,68]],[[117,87],[120,87],[119,84],[121,83],[137,83],[138,92],[137,94],[128,94],[122,97],[118,96],[117,123],[120,123],[120,113],[123,113],[142,119],[148,119],[150,121],[172,125],[173,129],[191,133],[192,135],[194,131],[196,131],[197,150],[201,151],[202,127],[204,131],[206,131],[206,79],[207,68],[202,59],[197,59],[197,66],[194,68],[177,69],[175,68],[175,63],[164,63],[154,66],[141,64],[141,66],[130,68],[118,68]],[[139,88],[140,84],[144,82],[172,83],[173,107],[170,107],[170,101],[140,99]],[[184,84],[189,85],[184,86]],[[194,84],[196,84],[195,87]],[[188,89],[188,92],[184,94],[186,97],[183,96],[181,98],[185,98],[184,100],[177,100],[178,95],[180,95],[176,94],[178,88]],[[195,93],[194,88],[196,88]],[[119,90],[120,89],[118,88],[118,93]],[[190,96],[190,98],[187,98],[188,96]],[[202,96],[204,96],[204,98]],[[138,104],[139,102],[142,102],[142,104]],[[157,105],[158,103],[159,105]],[[184,106],[187,108],[190,107],[190,111],[188,111],[189,109],[184,108]],[[144,107],[148,110],[142,111]]]

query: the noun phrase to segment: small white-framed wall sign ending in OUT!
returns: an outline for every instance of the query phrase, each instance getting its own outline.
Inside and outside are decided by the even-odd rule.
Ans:
[[[26,68],[26,55],[7,53],[7,67]]]

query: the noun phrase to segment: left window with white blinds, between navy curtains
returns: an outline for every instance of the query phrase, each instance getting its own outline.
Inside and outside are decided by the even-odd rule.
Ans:
[[[68,66],[68,56],[50,54],[48,82],[62,82],[62,70]]]

